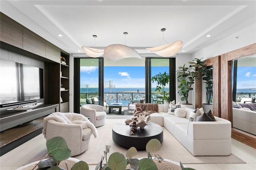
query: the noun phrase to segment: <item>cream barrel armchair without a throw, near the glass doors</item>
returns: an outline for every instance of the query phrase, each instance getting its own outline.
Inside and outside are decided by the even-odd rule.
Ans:
[[[100,105],[82,105],[80,113],[84,116],[90,116],[90,122],[95,127],[100,127],[105,124],[107,113],[104,112],[104,107]]]

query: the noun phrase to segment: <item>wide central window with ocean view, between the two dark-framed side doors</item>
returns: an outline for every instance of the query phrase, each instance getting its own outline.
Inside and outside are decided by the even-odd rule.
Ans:
[[[107,104],[128,106],[133,100],[145,98],[145,61],[126,58],[104,61],[104,100]]]

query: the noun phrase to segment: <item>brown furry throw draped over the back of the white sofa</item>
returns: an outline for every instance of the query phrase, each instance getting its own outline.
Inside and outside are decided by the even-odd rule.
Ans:
[[[158,112],[158,104],[156,103],[136,103],[133,115],[145,115],[148,116],[151,113]]]

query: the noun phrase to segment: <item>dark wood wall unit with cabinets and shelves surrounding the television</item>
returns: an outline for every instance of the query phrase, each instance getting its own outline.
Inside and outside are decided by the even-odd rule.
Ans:
[[[0,12],[0,25],[1,58],[7,58],[11,61],[25,63],[44,69],[44,99],[39,99],[37,101],[38,103],[44,102],[44,105],[37,109],[33,109],[32,111],[24,111],[21,117],[17,117],[20,115],[20,112],[14,113],[14,115],[11,115],[12,117],[10,117],[10,115],[5,117],[3,112],[1,112],[0,125],[2,144],[2,134],[12,128],[16,128],[14,126],[18,124],[39,121],[39,119],[37,119],[38,117],[42,117],[53,112],[69,112],[69,53],[38,36],[2,12]],[[65,57],[66,64],[60,62],[61,56]],[[60,71],[63,73],[62,76],[60,75]],[[65,87],[64,91],[60,89],[61,82]],[[63,99],[63,102],[61,102],[60,98]],[[54,108],[49,109],[48,106]],[[6,108],[1,109],[6,111]],[[44,109],[47,111],[44,111]],[[8,114],[10,114],[10,112]],[[7,144],[3,147],[1,146],[1,155],[8,152],[10,149],[19,146],[23,142],[30,140],[41,132],[42,129],[39,129],[39,131],[37,129],[36,132],[33,131],[22,138],[19,138],[19,135],[15,137],[14,134],[10,134],[16,140],[14,140],[10,145]],[[10,132],[8,131],[8,133]]]

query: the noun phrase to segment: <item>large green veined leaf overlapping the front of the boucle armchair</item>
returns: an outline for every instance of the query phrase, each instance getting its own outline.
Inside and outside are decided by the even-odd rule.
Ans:
[[[51,155],[56,162],[66,160],[71,155],[71,151],[68,148],[66,141],[59,136],[49,139],[46,142],[46,147],[48,154]]]

